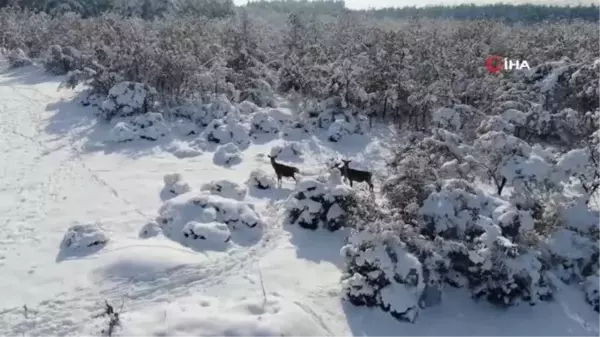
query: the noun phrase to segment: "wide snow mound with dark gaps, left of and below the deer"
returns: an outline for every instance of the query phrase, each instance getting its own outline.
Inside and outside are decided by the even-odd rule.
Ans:
[[[232,241],[236,243],[257,239],[253,233],[257,233],[263,227],[263,220],[252,204],[209,194],[206,191],[186,193],[170,199],[158,213],[157,222],[164,235],[184,246],[190,246],[190,240],[195,238],[191,235],[190,228],[208,230],[206,226],[199,227],[196,224],[188,226],[191,222],[225,224],[231,231]],[[221,233],[222,228],[219,228],[221,227],[213,226],[211,230]],[[198,234],[195,231],[194,233]],[[214,237],[215,233],[209,236]],[[192,247],[198,248],[196,244]]]

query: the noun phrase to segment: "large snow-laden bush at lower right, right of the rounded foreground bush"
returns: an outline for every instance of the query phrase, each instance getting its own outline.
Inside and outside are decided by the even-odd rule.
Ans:
[[[529,212],[450,180],[430,194],[419,213],[425,233],[442,243],[441,254],[466,278],[474,297],[502,306],[551,297],[540,254],[521,243],[533,230]]]

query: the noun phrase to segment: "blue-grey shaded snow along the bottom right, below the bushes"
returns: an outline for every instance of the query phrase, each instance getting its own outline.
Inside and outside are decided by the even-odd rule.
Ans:
[[[597,336],[599,329],[591,307],[569,312],[570,300],[521,305],[508,310],[494,307],[487,301],[474,301],[468,291],[448,287],[438,306],[422,310],[415,323],[401,322],[379,308],[357,307],[343,301],[342,307],[352,336],[395,337],[402,329],[407,336]],[[583,301],[581,301],[583,305]],[[582,315],[580,317],[579,315]],[[597,313],[595,314],[597,315]],[[548,317],[552,320],[548,321]],[[584,317],[586,319],[584,319]],[[594,323],[588,323],[594,322]]]

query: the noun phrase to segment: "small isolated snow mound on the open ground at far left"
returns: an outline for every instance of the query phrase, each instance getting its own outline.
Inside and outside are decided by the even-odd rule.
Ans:
[[[60,254],[63,257],[88,255],[103,248],[108,236],[98,224],[76,224],[67,230],[60,243]]]

